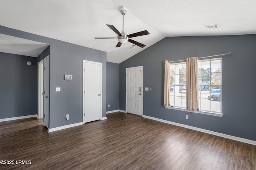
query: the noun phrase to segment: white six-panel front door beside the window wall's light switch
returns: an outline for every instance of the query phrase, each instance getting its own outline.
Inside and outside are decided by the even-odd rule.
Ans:
[[[143,66],[126,68],[126,112],[142,116]]]

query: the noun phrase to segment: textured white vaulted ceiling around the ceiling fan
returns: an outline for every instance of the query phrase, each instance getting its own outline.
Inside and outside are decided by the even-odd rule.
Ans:
[[[132,38],[146,45],[115,47],[106,26],[122,31],[118,7],[128,8],[124,32],[148,30]],[[0,25],[107,52],[120,63],[167,36],[256,34],[256,0],[0,0]],[[219,28],[204,28],[218,24]]]

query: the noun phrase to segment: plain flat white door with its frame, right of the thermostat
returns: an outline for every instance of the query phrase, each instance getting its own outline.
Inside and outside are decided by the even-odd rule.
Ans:
[[[102,63],[83,61],[83,122],[102,118]]]

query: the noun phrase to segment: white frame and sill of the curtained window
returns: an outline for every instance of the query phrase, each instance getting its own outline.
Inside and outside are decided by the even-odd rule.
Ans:
[[[212,58],[212,59],[202,59],[202,60],[199,60],[198,62],[202,62],[202,61],[213,61],[213,60],[219,60],[220,59],[220,64],[221,64],[221,79],[220,79],[220,112],[214,112],[214,111],[208,111],[208,110],[199,110],[199,111],[189,111],[189,110],[186,110],[186,108],[183,108],[183,107],[176,107],[176,106],[170,106],[170,107],[165,107],[166,109],[174,109],[174,110],[180,110],[180,111],[187,111],[187,112],[192,112],[192,113],[200,113],[200,114],[204,114],[204,115],[212,115],[212,116],[217,116],[217,117],[222,117],[223,114],[222,114],[222,60],[221,58]],[[170,65],[178,65],[178,64],[184,64],[186,62],[178,62],[178,63],[170,63]],[[201,67],[201,66],[200,66]],[[199,68],[199,65],[198,65],[198,68]],[[198,77],[199,79],[199,77]],[[173,85],[170,85],[170,87],[172,87]],[[178,86],[182,86],[182,85],[174,85],[175,87],[178,87]],[[198,85],[198,87],[202,87],[202,86],[206,86],[206,85]],[[214,87],[214,86],[219,86],[219,85],[208,85],[209,87]],[[198,93],[199,93],[199,90],[198,90]],[[200,102],[200,97],[198,97],[198,101]]]

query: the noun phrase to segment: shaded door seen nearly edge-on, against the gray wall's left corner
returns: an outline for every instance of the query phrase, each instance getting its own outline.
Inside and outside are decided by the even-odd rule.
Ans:
[[[44,118],[43,125],[49,129],[50,56],[44,58]]]

